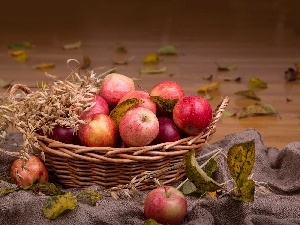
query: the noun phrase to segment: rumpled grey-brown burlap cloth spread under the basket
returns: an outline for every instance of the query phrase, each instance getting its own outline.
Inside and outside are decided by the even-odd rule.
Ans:
[[[203,151],[221,147],[224,151],[237,143],[255,140],[256,161],[252,179],[265,182],[268,188],[256,188],[253,203],[244,203],[223,196],[218,200],[212,198],[188,197],[188,213],[183,224],[300,224],[300,142],[289,143],[278,150],[264,145],[261,135],[253,129],[226,136],[223,140],[212,143]],[[2,148],[17,150],[12,143],[20,143],[18,135]],[[14,158],[0,153],[0,175],[7,175]],[[224,157],[218,158],[219,169],[216,179],[226,181],[230,177]],[[263,183],[261,183],[263,184]],[[0,188],[13,186],[0,182]],[[102,191],[101,187],[90,189]],[[268,191],[268,190],[272,191]],[[70,190],[74,193],[76,189]],[[30,191],[18,191],[0,196],[0,224],[143,224],[143,194],[132,199],[114,200],[105,196],[97,206],[79,203],[75,210],[61,215],[55,220],[48,220],[42,213],[42,207],[48,196]]]

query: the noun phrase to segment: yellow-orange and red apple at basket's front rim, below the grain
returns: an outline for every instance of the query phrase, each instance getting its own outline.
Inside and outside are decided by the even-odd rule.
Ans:
[[[119,133],[115,122],[108,115],[96,113],[78,127],[80,142],[87,147],[115,147]]]

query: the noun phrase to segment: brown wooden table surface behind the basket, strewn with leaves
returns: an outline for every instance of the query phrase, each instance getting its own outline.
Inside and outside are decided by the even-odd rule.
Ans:
[[[0,78],[34,86],[45,81],[45,71],[32,66],[51,62],[50,74],[67,76],[67,59],[82,61],[87,55],[91,69],[116,67],[119,73],[139,78],[143,89],[166,79],[178,81],[186,94],[210,81],[213,75],[221,86],[211,93],[213,107],[223,96],[230,97],[228,111],[234,112],[257,101],[234,93],[247,89],[250,78],[268,85],[255,89],[261,103],[271,104],[279,116],[238,119],[222,117],[212,141],[225,135],[254,128],[265,144],[281,149],[300,139],[300,82],[286,82],[284,72],[300,63],[299,1],[51,1],[51,3],[7,2],[0,9]],[[63,50],[68,43],[81,41],[76,50]],[[7,45],[29,41],[25,63],[8,55]],[[124,45],[127,65],[114,65],[115,45]],[[145,55],[166,44],[176,46],[177,56],[161,57],[158,67],[165,73],[140,74]],[[221,66],[236,70],[219,72]],[[97,70],[98,71],[98,70]],[[101,70],[100,70],[101,71]],[[223,81],[224,77],[240,82]],[[2,89],[3,93],[4,90]],[[291,101],[287,101],[290,99]]]

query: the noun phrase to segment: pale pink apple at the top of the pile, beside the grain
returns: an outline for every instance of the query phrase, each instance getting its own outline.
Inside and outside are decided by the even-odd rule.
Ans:
[[[105,99],[109,108],[112,109],[126,93],[134,90],[134,81],[131,78],[122,74],[111,73],[103,78],[99,95]]]

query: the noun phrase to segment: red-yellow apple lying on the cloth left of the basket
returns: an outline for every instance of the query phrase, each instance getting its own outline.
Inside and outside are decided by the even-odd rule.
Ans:
[[[10,166],[9,174],[17,185],[26,188],[34,183],[48,182],[48,170],[38,156],[30,155],[29,159],[25,162],[28,170],[23,169],[22,164],[22,159],[18,158]]]

